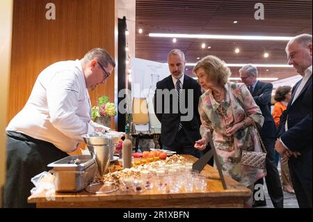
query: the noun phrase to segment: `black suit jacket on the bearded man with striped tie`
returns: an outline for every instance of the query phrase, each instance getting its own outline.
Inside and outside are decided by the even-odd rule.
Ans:
[[[168,76],[165,79],[157,82],[157,90],[161,89],[168,89],[172,90],[175,89],[175,86],[172,82],[172,76]],[[195,143],[198,139],[201,138],[200,136],[200,116],[198,113],[198,103],[201,93],[200,85],[198,84],[195,79],[188,77],[186,74],[184,75],[184,83],[182,89],[185,89],[186,97],[185,97],[185,106],[188,105],[188,89],[193,90],[193,103],[192,107],[188,107],[188,109],[193,110],[193,117],[191,121],[182,121],[182,127],[186,136],[188,136],[188,140],[191,144]],[[161,142],[163,145],[170,146],[174,142],[177,131],[178,131],[178,124],[181,116],[187,116],[187,114],[182,113],[173,113],[172,109],[172,96],[170,97],[170,109],[169,113],[165,113],[164,111],[164,95],[162,97],[157,97],[157,90],[154,94],[154,113],[156,113],[157,118],[161,122]],[[181,100],[183,97],[181,95]],[[162,112],[157,112],[157,104],[162,104]]]

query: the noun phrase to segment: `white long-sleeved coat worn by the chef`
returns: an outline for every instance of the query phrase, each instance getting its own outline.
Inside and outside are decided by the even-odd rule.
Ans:
[[[6,130],[53,143],[64,152],[77,149],[81,135],[95,131],[81,62],[62,61],[43,70],[31,96]]]

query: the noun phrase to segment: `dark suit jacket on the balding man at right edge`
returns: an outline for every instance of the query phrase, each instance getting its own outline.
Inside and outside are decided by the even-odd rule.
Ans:
[[[291,99],[286,111],[282,113],[278,130],[279,136],[287,148],[302,153],[305,150],[312,150],[312,76],[294,103],[291,104],[300,82],[301,80],[292,88]],[[284,125],[287,118],[288,130],[285,132]]]

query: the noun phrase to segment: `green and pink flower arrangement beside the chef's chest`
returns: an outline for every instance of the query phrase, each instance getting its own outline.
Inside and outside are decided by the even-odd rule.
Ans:
[[[92,108],[92,120],[101,116],[116,116],[115,104],[113,102],[109,102],[109,97],[106,95],[99,97],[97,106],[93,106]]]

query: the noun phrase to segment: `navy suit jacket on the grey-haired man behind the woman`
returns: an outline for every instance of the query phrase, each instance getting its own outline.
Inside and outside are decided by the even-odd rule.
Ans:
[[[275,122],[271,114],[272,90],[273,84],[257,81],[252,93],[255,103],[259,106],[264,116],[264,124],[260,132],[262,138],[275,138],[276,135]]]

